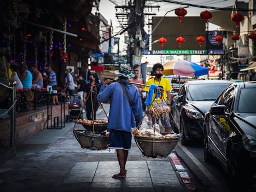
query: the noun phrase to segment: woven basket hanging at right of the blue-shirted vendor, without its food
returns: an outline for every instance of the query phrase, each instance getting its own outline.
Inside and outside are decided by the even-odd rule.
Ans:
[[[146,157],[167,157],[176,147],[180,137],[153,138],[134,136],[134,140],[142,154]]]

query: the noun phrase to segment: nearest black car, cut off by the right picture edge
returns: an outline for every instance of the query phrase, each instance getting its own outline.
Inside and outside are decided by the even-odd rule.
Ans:
[[[217,158],[229,179],[255,184],[256,81],[227,87],[206,112],[203,126],[205,161]]]

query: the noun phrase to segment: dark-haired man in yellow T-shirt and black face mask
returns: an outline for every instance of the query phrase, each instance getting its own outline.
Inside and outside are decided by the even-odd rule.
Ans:
[[[146,84],[148,86],[151,86],[152,84],[155,84],[156,86],[160,87],[163,89],[161,96],[158,97],[157,99],[155,98],[155,92],[153,94],[153,98],[152,100],[153,103],[155,102],[162,102],[162,101],[168,101],[168,103],[170,104],[170,90],[172,89],[172,86],[170,86],[170,82],[162,77],[163,74],[163,66],[160,63],[156,63],[153,66],[153,72],[155,77],[149,79]],[[144,91],[148,92],[150,90],[149,87],[144,87]],[[155,123],[155,116],[153,114],[152,115],[152,120],[153,120],[153,124]],[[162,118],[161,118],[162,119]],[[163,125],[164,125],[164,129],[166,133],[169,133],[171,131],[172,126],[170,125],[170,119],[169,119],[169,115],[165,114],[163,117],[164,121],[163,121]]]

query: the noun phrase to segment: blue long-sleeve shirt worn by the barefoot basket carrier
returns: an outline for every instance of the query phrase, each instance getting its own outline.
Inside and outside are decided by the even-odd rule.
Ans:
[[[125,80],[121,79],[121,81]],[[131,132],[131,128],[138,126],[143,117],[142,104],[138,89],[130,83],[123,83],[123,85],[131,100],[131,106],[118,82],[111,83],[109,86],[101,86],[97,99],[99,102],[106,102],[110,99],[108,130]]]

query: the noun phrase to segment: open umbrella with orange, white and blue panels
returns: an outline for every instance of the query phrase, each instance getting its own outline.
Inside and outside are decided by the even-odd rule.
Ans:
[[[194,62],[187,60],[172,60],[164,63],[163,75],[184,75],[188,77],[199,77],[207,75],[208,70]]]

